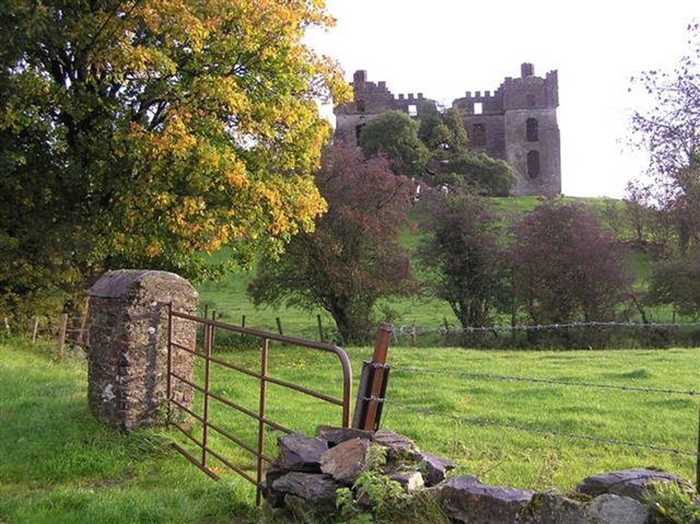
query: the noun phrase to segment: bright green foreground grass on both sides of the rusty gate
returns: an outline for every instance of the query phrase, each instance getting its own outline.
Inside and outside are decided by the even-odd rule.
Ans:
[[[174,430],[125,435],[95,422],[86,406],[85,363],[56,363],[51,349],[18,340],[0,345],[0,522],[256,522],[253,486],[222,467],[217,469],[221,482],[209,479],[167,445],[179,440]],[[257,350],[228,351],[222,357],[256,366]],[[348,352],[357,385],[372,348]],[[282,346],[271,353],[272,376],[338,394],[332,358]],[[588,475],[627,467],[656,467],[695,481],[698,396],[666,391],[699,389],[697,350],[390,348],[388,361],[382,426],[454,461],[456,475],[560,491]],[[217,391],[257,406],[255,385],[213,376]],[[337,407],[277,388],[270,388],[268,404],[272,420],[303,433],[340,421]],[[229,409],[215,407],[213,417],[244,432],[255,430]],[[277,433],[268,438],[273,450]],[[238,450],[212,445],[253,467]]]

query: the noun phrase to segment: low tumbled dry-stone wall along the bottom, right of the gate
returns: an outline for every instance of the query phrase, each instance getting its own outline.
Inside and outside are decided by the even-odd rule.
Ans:
[[[372,459],[373,447],[381,449],[386,456],[381,466]],[[650,509],[644,494],[653,482],[675,482],[692,491],[678,476],[649,469],[588,477],[575,492],[564,496],[489,486],[472,476],[446,478],[453,467],[450,461],[422,453],[407,438],[387,430],[324,427],[315,438],[285,435],[279,439],[279,456],[267,473],[264,520],[342,522],[347,519],[339,515],[337,501],[343,488],[351,490],[358,508],[375,517],[371,494],[357,486],[360,475],[371,468],[398,482],[423,506],[439,508],[439,515],[433,512],[415,520],[433,524],[645,524],[650,521]],[[386,496],[389,497],[388,491]],[[406,515],[415,511],[400,504],[394,510]],[[406,516],[401,522],[413,521]]]

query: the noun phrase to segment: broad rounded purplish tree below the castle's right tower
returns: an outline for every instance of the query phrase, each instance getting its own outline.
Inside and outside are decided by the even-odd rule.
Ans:
[[[514,295],[536,325],[610,321],[628,293],[626,251],[579,203],[550,199],[513,228]]]

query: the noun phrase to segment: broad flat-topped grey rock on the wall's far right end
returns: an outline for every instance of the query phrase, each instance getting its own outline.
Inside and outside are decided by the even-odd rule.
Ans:
[[[581,481],[576,486],[576,490],[594,498],[611,493],[643,502],[644,493],[653,482],[675,482],[680,488],[692,491],[692,486],[678,475],[644,468],[594,475]]]

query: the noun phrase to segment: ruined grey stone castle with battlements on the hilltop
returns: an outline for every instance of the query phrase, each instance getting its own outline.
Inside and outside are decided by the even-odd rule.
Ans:
[[[369,82],[365,71],[355,71],[353,100],[335,108],[336,136],[358,142],[364,124],[386,110],[420,116],[428,98],[422,93],[395,96],[385,82]],[[467,92],[453,102],[462,114],[472,151],[506,161],[517,183],[514,196],[561,193],[561,148],[557,107],[557,71],[536,77],[532,63],[521,66],[520,78],[505,78],[493,93]]]

